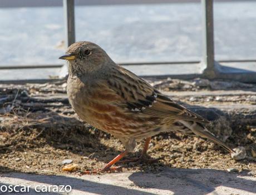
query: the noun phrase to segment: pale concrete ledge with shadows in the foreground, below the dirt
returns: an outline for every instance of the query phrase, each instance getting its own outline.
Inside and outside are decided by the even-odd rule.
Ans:
[[[1,185],[31,185],[26,194],[247,194],[256,193],[256,177],[211,169],[165,168],[153,173],[124,172],[88,176],[43,176],[8,173]],[[70,185],[69,193],[38,193],[36,185]],[[0,194],[17,194],[1,193]]]

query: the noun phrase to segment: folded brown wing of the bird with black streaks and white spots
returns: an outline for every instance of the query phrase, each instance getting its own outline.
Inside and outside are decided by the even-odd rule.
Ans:
[[[118,66],[116,70],[113,69],[107,82],[110,88],[124,99],[125,104],[120,106],[132,112],[144,113],[155,117],[171,117],[174,120],[183,119],[200,122],[201,124],[210,124],[208,120],[177,104],[161,94],[145,80],[121,66]]]

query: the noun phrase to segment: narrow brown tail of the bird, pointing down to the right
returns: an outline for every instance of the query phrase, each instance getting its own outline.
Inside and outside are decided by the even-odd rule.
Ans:
[[[230,153],[233,153],[234,151],[232,148],[230,148],[227,144],[225,144],[223,141],[220,141],[215,135],[213,135],[208,129],[206,129],[203,125],[201,125],[199,122],[195,121],[179,121],[181,124],[186,126],[188,129],[190,129],[195,135],[198,135],[200,137],[208,138],[210,141],[217,143],[221,147],[223,147],[225,150],[227,150]]]

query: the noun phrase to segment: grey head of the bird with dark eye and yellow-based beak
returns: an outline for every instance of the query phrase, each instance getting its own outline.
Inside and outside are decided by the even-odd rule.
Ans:
[[[67,48],[66,55],[59,59],[68,60],[70,74],[92,74],[113,64],[107,53],[97,44],[91,42],[76,42]]]

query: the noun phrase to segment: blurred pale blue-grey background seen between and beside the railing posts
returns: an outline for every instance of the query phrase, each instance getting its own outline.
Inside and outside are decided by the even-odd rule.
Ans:
[[[76,40],[101,45],[115,61],[201,60],[200,1],[90,2],[75,1]],[[0,16],[0,66],[61,63],[62,0],[1,0]],[[215,59],[255,59],[255,21],[256,1],[215,1]]]

